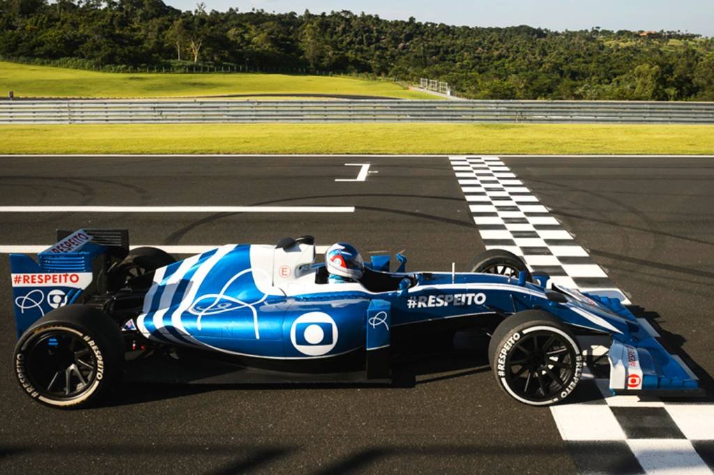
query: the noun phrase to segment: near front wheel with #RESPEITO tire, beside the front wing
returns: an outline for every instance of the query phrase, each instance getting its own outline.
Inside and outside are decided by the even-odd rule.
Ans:
[[[488,355],[501,389],[532,406],[568,397],[583,374],[577,339],[543,310],[518,312],[498,325]]]

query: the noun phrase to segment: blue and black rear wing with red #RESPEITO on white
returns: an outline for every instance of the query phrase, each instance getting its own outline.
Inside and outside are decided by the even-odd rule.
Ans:
[[[107,271],[129,252],[129,231],[57,231],[37,258],[10,255],[17,336],[46,313],[107,290]]]

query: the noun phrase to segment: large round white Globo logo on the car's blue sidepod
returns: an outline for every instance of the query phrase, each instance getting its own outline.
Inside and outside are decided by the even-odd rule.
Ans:
[[[300,315],[290,328],[293,347],[308,356],[321,356],[331,352],[337,344],[337,338],[337,324],[324,312]]]

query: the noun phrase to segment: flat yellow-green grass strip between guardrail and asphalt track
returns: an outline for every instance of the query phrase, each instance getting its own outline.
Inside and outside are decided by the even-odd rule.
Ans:
[[[714,126],[131,124],[0,126],[0,153],[714,154]]]

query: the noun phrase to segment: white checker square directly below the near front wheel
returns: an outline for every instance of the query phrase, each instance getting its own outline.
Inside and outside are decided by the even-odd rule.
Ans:
[[[550,413],[565,441],[625,440],[623,429],[605,404],[551,406]]]

